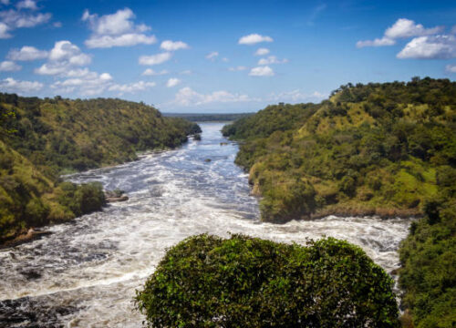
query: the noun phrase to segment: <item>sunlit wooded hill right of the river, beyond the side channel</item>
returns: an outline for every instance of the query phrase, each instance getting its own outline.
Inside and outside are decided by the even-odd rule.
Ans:
[[[223,128],[263,195],[264,220],[422,213],[456,163],[456,83],[347,85],[321,104],[270,106]]]

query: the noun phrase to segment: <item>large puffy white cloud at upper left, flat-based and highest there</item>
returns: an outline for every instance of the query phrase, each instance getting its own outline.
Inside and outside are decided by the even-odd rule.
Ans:
[[[150,26],[135,25],[135,15],[130,8],[119,9],[110,15],[98,16],[90,14],[88,10],[82,15],[82,21],[88,22],[92,35],[85,41],[89,48],[109,48],[112,46],[136,46],[139,44],[151,45],[157,42],[155,36],[148,36],[144,32]]]

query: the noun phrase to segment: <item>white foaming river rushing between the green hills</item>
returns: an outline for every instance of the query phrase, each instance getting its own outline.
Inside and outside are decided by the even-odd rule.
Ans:
[[[143,318],[132,303],[135,289],[166,248],[203,232],[297,243],[332,236],[361,246],[387,272],[399,266],[409,220],[260,222],[247,175],[233,163],[237,145],[222,137],[222,123],[201,127],[202,141],[181,149],[68,177],[125,190],[130,200],[0,251],[0,326],[138,327]]]

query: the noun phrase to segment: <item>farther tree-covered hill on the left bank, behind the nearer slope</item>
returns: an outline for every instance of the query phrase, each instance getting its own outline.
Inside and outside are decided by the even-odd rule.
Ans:
[[[201,132],[189,121],[119,99],[0,94],[0,108],[16,113],[5,126],[16,133],[5,143],[51,175],[137,159],[139,150],[172,148]]]

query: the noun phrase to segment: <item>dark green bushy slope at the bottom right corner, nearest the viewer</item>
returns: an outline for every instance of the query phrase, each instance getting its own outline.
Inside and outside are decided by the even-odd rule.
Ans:
[[[399,282],[416,328],[456,326],[456,169],[441,171],[439,182],[399,252]]]

